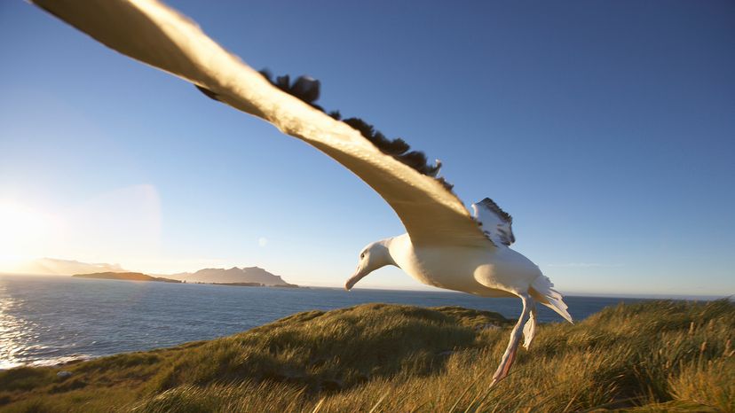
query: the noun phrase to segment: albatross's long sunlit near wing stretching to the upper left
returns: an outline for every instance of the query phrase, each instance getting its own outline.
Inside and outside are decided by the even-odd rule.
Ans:
[[[368,183],[416,245],[488,247],[462,201],[437,179],[381,152],[356,129],[273,87],[186,17],[155,0],[34,0],[130,58],[175,74],[209,97],[273,123]]]

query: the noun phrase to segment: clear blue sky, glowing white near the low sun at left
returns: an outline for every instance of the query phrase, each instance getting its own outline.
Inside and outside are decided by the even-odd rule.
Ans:
[[[735,293],[731,1],[170,4],[441,159],[562,292]],[[0,56],[0,260],[336,286],[403,232],[312,147],[32,5],[0,4]],[[420,287],[399,269],[360,285]]]

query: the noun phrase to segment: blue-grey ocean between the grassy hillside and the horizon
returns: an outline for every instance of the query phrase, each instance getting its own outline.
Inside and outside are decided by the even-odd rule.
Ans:
[[[620,302],[565,297],[581,320]],[[367,302],[462,306],[517,318],[518,299],[457,292],[270,288],[0,275],[0,370],[176,346],[246,331],[284,316]],[[563,322],[548,308],[541,323]]]

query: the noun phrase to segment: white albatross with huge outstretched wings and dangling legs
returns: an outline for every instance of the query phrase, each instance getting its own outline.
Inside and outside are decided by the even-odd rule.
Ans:
[[[541,269],[510,248],[512,217],[491,199],[472,214],[443,178],[440,164],[425,165],[360,120],[340,120],[314,105],[319,83],[269,81],[202,32],[192,20],[155,0],[34,0],[36,5],[100,43],[193,83],[208,97],[268,121],[301,139],[368,183],[395,211],[406,234],[367,245],[347,290],[375,269],[399,267],[423,284],[481,297],[518,297],[523,311],[491,386],[508,376],[521,335],[528,348],[536,331],[536,304],[572,323],[562,295]]]

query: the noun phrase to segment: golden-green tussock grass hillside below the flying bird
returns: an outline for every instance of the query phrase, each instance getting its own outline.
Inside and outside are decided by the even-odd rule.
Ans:
[[[224,339],[8,370],[0,410],[735,411],[729,301],[620,305],[542,325],[488,390],[509,329],[464,308],[312,311]]]

